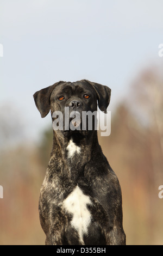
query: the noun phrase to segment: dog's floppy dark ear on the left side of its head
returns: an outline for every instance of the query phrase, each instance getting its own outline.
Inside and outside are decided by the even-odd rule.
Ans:
[[[46,115],[49,113],[51,109],[51,94],[54,88],[60,83],[62,83],[62,81],[54,83],[52,86],[43,88],[33,95],[35,105],[39,110],[42,118],[46,117]]]

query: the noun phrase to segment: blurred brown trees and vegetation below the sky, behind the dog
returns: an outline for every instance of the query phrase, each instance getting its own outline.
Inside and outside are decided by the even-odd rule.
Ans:
[[[114,88],[112,88],[114,89]],[[99,143],[120,180],[123,227],[127,245],[163,245],[163,78],[160,70],[144,70],[129,95],[111,112],[111,135]],[[52,147],[52,130],[41,145],[1,150],[0,244],[43,245],[38,202]]]

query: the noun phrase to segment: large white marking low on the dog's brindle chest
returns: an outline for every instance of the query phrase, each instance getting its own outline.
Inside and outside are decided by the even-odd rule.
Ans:
[[[86,207],[87,204],[92,204],[91,200],[89,196],[83,194],[78,186],[64,200],[65,209],[73,215],[71,224],[78,231],[82,245],[84,245],[83,234],[87,234],[87,227],[91,221],[91,214]]]

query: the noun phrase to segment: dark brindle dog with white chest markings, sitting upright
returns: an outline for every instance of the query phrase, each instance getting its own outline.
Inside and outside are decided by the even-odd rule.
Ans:
[[[111,89],[81,80],[60,81],[34,96],[44,118],[51,110],[63,114],[106,113]],[[58,113],[58,112],[57,112]],[[72,118],[69,118],[70,123]],[[92,119],[95,123],[95,118]],[[82,118],[79,121],[82,124]],[[65,123],[64,123],[65,125]],[[77,122],[74,127],[79,126]],[[122,194],[116,174],[98,143],[97,130],[53,130],[53,147],[39,199],[40,223],[46,245],[126,245]]]

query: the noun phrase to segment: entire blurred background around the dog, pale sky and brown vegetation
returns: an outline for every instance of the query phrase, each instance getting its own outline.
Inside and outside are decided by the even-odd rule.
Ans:
[[[84,78],[112,90],[111,135],[99,143],[120,180],[127,245],[163,245],[162,10],[161,0],[0,0],[1,245],[45,243],[52,124],[33,94]]]

